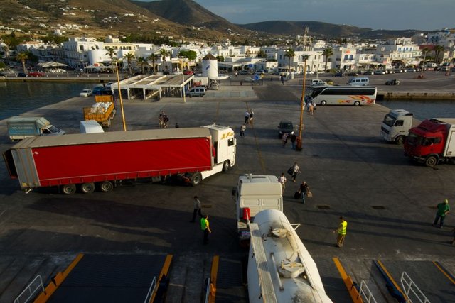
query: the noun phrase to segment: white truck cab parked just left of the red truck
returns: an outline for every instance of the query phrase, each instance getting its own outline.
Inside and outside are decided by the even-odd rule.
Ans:
[[[391,109],[384,116],[381,125],[381,137],[386,141],[402,144],[412,128],[414,116],[405,109]]]

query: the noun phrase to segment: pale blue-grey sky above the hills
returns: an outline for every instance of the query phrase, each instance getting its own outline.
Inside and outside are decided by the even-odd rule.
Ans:
[[[153,0],[141,0],[153,1]],[[321,21],[373,29],[455,28],[455,0],[193,0],[232,23]]]

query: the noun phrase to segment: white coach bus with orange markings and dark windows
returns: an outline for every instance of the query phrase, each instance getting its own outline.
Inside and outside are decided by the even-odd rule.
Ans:
[[[375,104],[376,87],[324,86],[310,87],[306,99],[321,105]]]

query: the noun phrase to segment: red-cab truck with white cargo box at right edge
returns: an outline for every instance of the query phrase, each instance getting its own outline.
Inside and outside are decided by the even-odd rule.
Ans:
[[[455,119],[427,119],[411,128],[405,141],[405,155],[429,167],[454,162]]]

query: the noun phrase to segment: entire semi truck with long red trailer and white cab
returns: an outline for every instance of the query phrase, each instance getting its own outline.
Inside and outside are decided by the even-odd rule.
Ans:
[[[64,138],[26,138],[4,153],[12,179],[26,192],[58,187],[109,192],[124,180],[185,177],[193,186],[235,165],[232,128],[198,128],[69,134]]]

